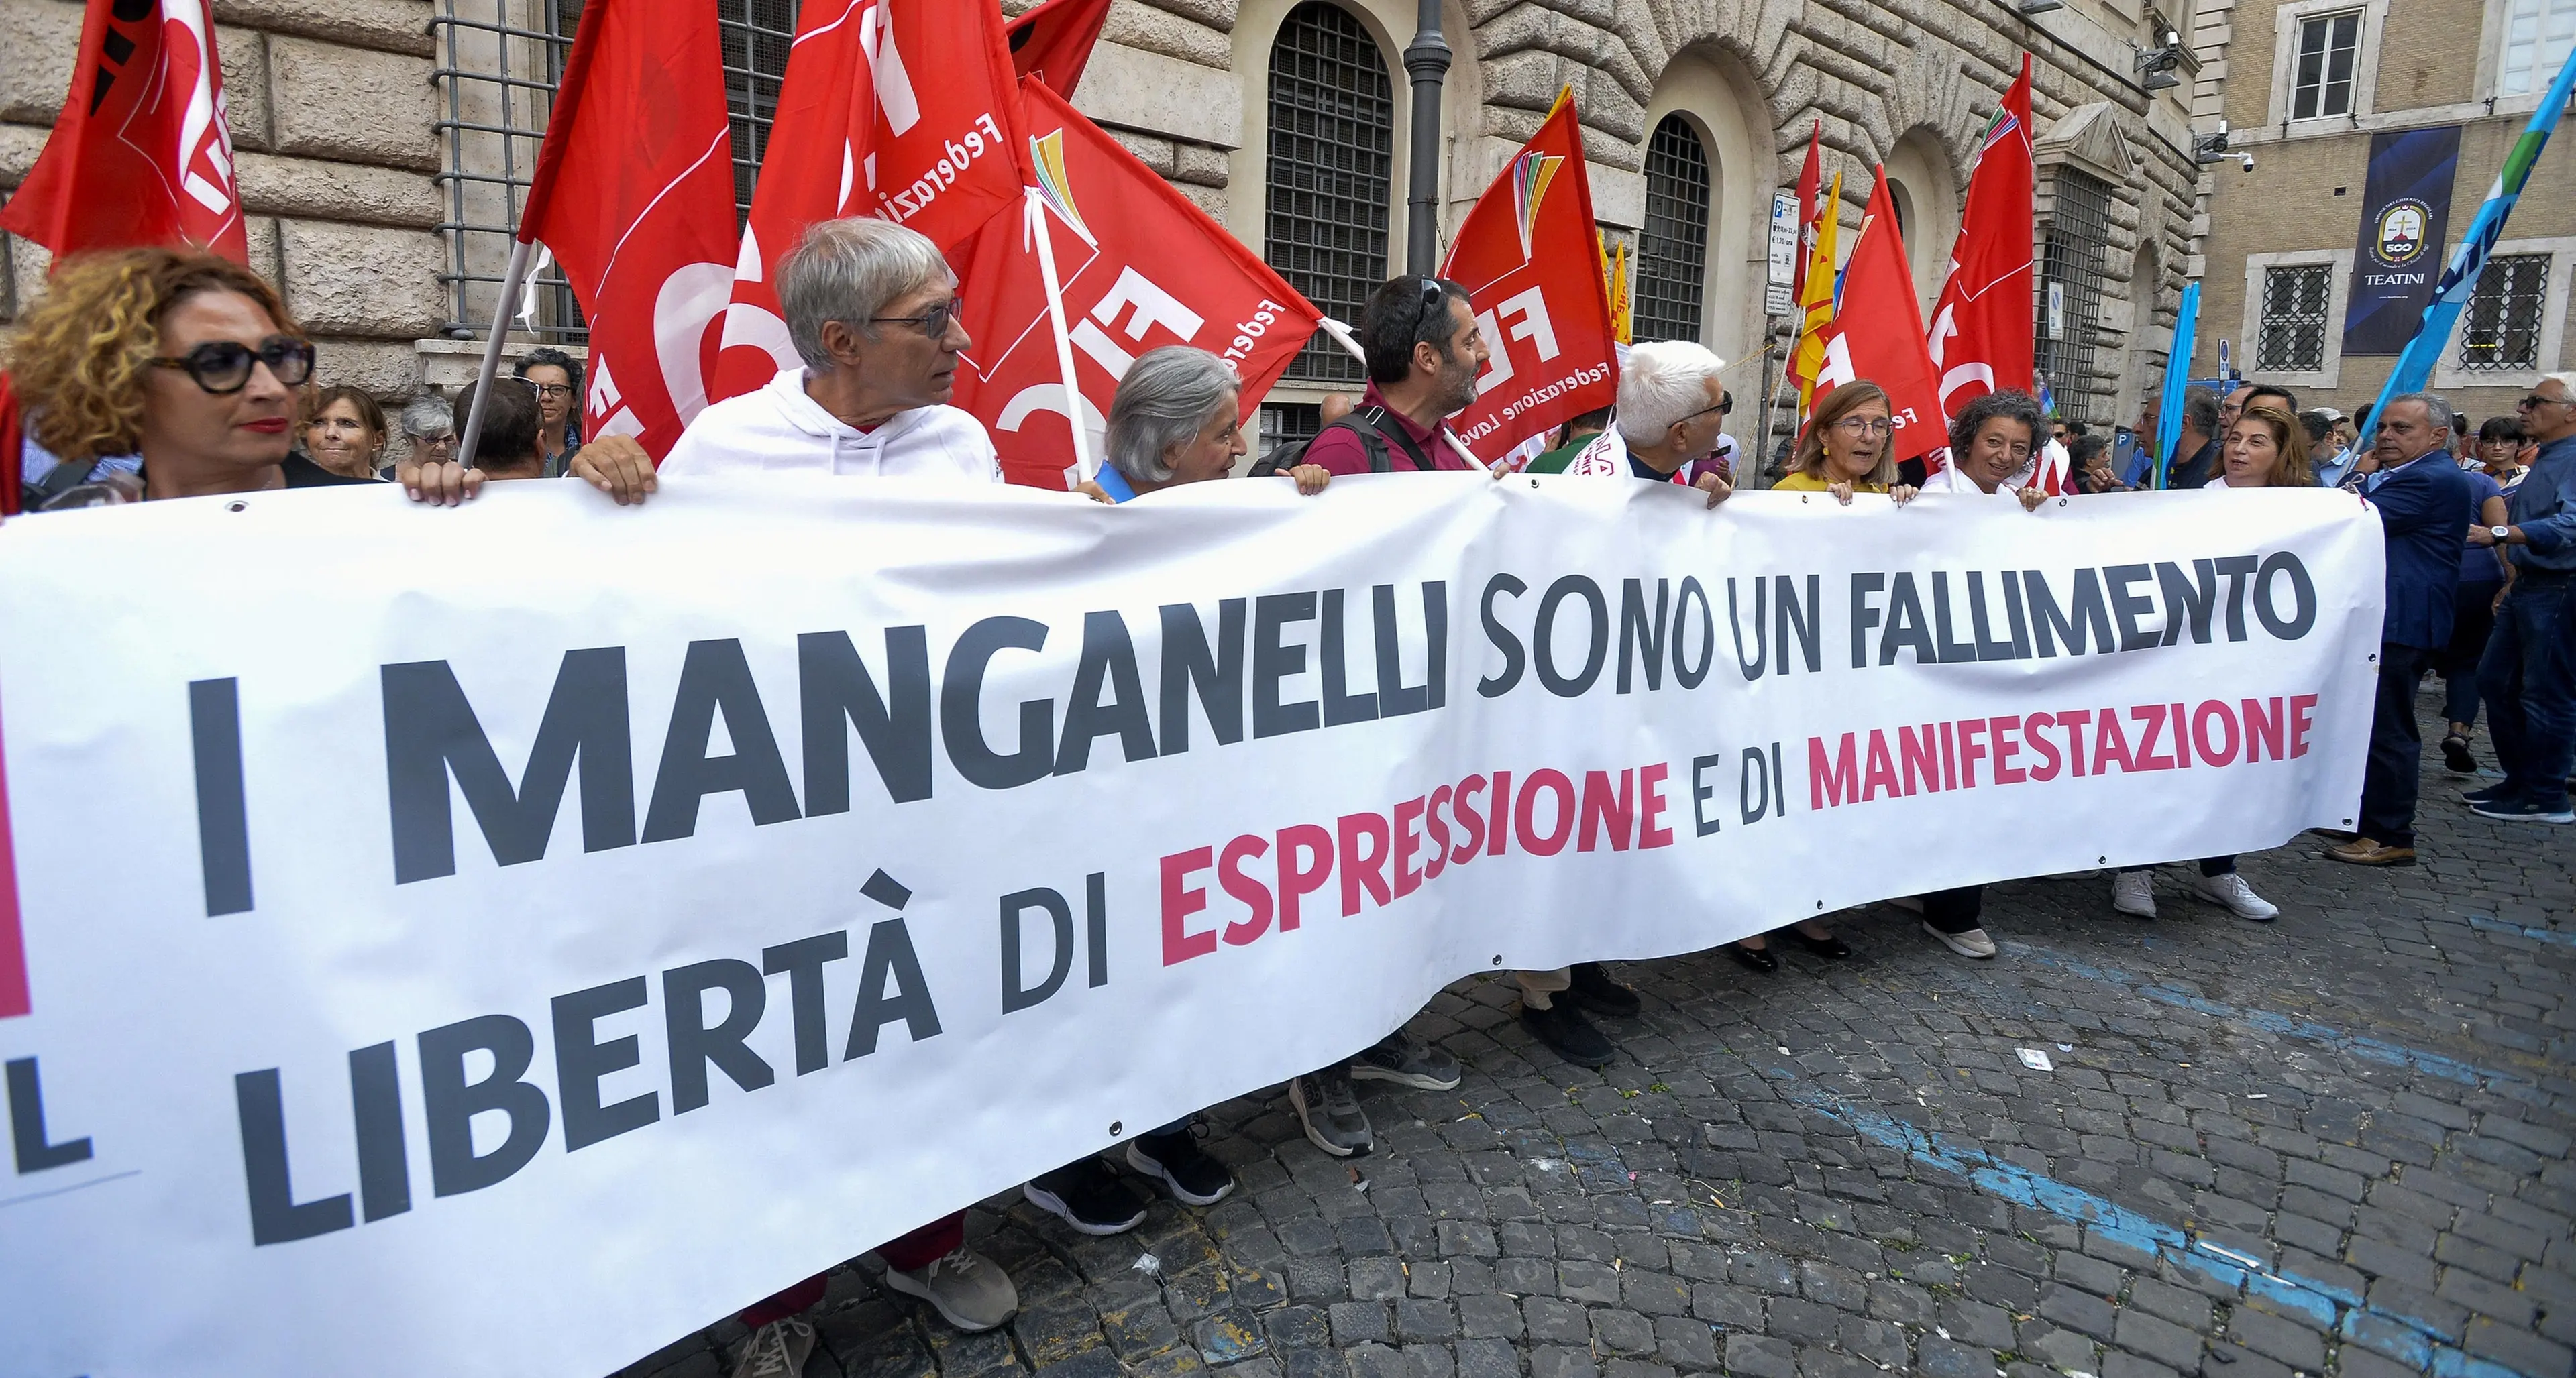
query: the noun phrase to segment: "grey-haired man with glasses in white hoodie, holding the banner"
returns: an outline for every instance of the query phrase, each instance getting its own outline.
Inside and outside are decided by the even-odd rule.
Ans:
[[[778,265],[778,309],[801,363],[698,412],[662,474],[1002,482],[984,422],[948,404],[971,340],[938,245],[884,219],[817,222]],[[631,435],[582,446],[572,474],[621,505],[654,489]]]

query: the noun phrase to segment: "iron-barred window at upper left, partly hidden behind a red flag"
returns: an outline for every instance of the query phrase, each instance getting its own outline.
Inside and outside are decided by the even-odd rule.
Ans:
[[[438,39],[440,224],[448,263],[446,335],[469,340],[500,307],[510,234],[528,198],[528,173],[546,139],[554,85],[572,54],[585,0],[440,0]],[[799,0],[716,0],[724,95],[734,124],[734,209],[747,211],[778,111]],[[546,343],[582,343],[587,330],[556,268],[533,276],[536,312],[523,327]],[[515,314],[518,307],[513,307]]]

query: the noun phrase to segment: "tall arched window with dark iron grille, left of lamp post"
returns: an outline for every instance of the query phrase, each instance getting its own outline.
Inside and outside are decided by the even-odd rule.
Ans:
[[[1288,10],[1270,44],[1262,258],[1324,314],[1352,325],[1386,281],[1394,142],[1396,95],[1368,28],[1321,0]],[[1316,332],[1288,376],[1355,384],[1365,371]]]

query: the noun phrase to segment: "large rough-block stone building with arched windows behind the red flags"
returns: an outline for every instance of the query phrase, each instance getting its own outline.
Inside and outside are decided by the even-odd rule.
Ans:
[[[747,201],[796,0],[711,3]],[[2030,49],[2032,234],[2056,283],[2035,304],[2043,368],[2063,412],[2130,420],[2197,250],[2200,59],[2172,41],[2190,15],[2161,3],[1448,0],[1440,229],[1571,85],[1595,214],[1638,250],[1641,337],[1692,335],[1726,358],[1785,343],[1762,312],[1767,224],[1811,124],[1844,170],[1847,224],[1886,165],[1929,304],[1976,144]],[[214,15],[252,263],[325,340],[325,373],[384,397],[461,381],[580,0],[214,0]],[[70,82],[80,5],[0,0],[0,183],[15,185]],[[1350,312],[1404,270],[1414,28],[1414,0],[1118,0],[1077,103]],[[10,242],[0,307],[15,314],[41,273],[41,250]],[[538,288],[523,309],[520,340],[580,343],[569,294]],[[1752,399],[1765,379],[1770,361],[1747,363],[1731,386]],[[1265,430],[1303,430],[1321,394],[1352,389],[1319,348]]]

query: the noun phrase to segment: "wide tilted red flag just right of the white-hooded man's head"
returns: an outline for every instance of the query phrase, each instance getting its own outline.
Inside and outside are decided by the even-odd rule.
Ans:
[[[1198,345],[1244,381],[1244,417],[1314,335],[1316,309],[1190,198],[1036,77],[1020,82],[1036,193],[1064,291],[1082,420],[1097,433],[1136,355]],[[956,404],[992,430],[1002,477],[1066,487],[1072,407],[1023,203],[992,216],[958,296],[974,337]]]

